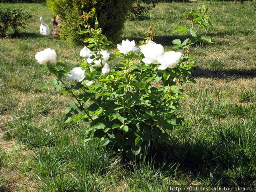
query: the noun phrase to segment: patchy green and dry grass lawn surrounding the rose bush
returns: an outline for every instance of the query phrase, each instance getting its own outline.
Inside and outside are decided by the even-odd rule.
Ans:
[[[165,50],[183,16],[202,3],[160,3],[143,21],[127,21],[123,39],[137,42],[154,30]],[[0,4],[14,6],[14,4]],[[19,36],[0,38],[0,192],[168,192],[169,185],[203,184],[256,187],[256,12],[245,2],[212,2],[214,44],[196,44],[196,64],[184,86],[179,116],[185,122],[171,132],[171,146],[123,165],[99,140],[82,143],[87,125],[64,124],[64,109],[74,102],[49,88],[51,78],[34,55],[56,50],[58,61],[77,66],[82,46],[40,35],[39,17],[50,26],[42,4],[18,4],[33,16]],[[168,29],[170,32],[168,32]],[[167,30],[167,31],[166,31]],[[110,48],[115,52],[116,48]]]

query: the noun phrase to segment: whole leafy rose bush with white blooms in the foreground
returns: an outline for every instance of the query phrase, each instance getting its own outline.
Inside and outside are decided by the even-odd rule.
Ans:
[[[193,10],[186,14],[196,18]],[[199,28],[206,25],[206,16],[195,21]],[[80,52],[84,62],[79,66],[70,69],[61,62],[52,62],[52,58],[45,62],[48,56],[36,54],[38,62],[56,76],[40,90],[53,86],[74,97],[76,103],[66,109],[64,122],[88,122],[84,142],[100,138],[103,146],[120,152],[124,158],[136,158],[150,146],[157,149],[159,144],[170,144],[170,130],[183,121],[177,116],[179,101],[186,97],[181,86],[195,83],[189,78],[194,65],[189,48],[198,40],[211,42],[209,37],[195,35],[198,30],[192,28],[179,27],[174,32],[184,30],[193,34],[192,38],[182,43],[173,40],[175,51],[165,51],[152,40],[141,42],[139,48],[134,40],[123,40],[115,54],[106,50],[111,42],[100,28],[84,30],[91,37],[84,40],[88,46]],[[113,57],[120,57],[118,65],[112,65]],[[72,85],[66,86],[64,79]]]

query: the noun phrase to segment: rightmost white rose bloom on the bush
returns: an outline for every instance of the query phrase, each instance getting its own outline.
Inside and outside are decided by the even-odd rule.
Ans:
[[[174,68],[179,62],[181,52],[169,51],[158,56],[157,61],[161,64],[158,69],[165,70],[166,68]]]

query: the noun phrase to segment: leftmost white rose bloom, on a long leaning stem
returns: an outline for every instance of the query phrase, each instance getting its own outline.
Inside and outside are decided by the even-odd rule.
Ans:
[[[40,51],[35,55],[36,60],[43,65],[46,65],[47,62],[49,62],[50,64],[56,63],[56,57],[56,52],[50,48]]]

